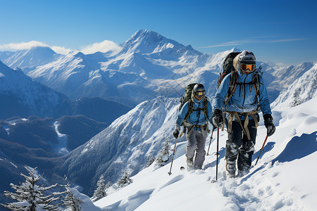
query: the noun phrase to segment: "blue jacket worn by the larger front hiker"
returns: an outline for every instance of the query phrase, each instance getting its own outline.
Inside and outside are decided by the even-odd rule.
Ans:
[[[238,81],[241,83],[249,83],[252,81],[252,76],[254,73],[245,75],[240,71],[238,72]],[[253,84],[238,84],[235,93],[230,98],[230,101],[226,108],[224,108],[225,96],[228,93],[230,84],[231,73],[228,74],[221,82],[216,96],[213,99],[213,109],[219,109],[223,111],[236,111],[238,113],[250,112],[256,110],[257,99],[256,91]],[[263,115],[271,114],[270,101],[268,100],[268,91],[263,83],[263,78],[259,75],[260,89],[259,89],[259,104]],[[250,89],[251,86],[251,89]],[[250,117],[251,118],[251,117]]]

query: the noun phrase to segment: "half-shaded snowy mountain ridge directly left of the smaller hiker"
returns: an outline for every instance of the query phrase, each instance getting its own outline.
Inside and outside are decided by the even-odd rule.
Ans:
[[[100,174],[115,182],[127,168],[136,174],[156,155],[166,137],[171,140],[178,99],[159,96],[140,103],[104,131],[70,152],[58,167],[60,174],[92,194]],[[85,166],[85,167],[84,167]]]

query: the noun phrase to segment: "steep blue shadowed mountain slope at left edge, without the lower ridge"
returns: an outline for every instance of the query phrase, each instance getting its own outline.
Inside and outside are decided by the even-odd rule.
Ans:
[[[67,113],[67,97],[34,82],[20,69],[12,70],[0,61],[1,118],[13,115],[56,116]]]

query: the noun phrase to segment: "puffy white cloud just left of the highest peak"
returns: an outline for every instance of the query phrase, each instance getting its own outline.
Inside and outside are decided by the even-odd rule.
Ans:
[[[97,51],[106,52],[106,51],[120,51],[120,46],[113,41],[104,40],[88,46],[83,46],[80,51],[85,54],[96,53]]]

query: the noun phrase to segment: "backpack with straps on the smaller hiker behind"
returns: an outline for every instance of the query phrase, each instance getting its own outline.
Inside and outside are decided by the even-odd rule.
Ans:
[[[180,107],[178,108],[178,111],[180,111],[182,109],[182,106],[184,106],[184,104],[188,101],[188,110],[187,113],[185,115],[183,122],[187,121],[187,118],[189,117],[189,115],[192,114],[193,111],[195,110],[204,110],[204,115],[206,117],[206,120],[208,121],[208,108],[207,108],[207,102],[209,101],[209,98],[207,98],[205,96],[204,101],[203,101],[203,108],[199,108],[199,109],[194,109],[194,102],[192,101],[192,89],[194,88],[194,86],[197,83],[194,84],[188,84],[186,87],[186,91],[185,91],[185,95],[182,94],[182,96],[180,97]]]

